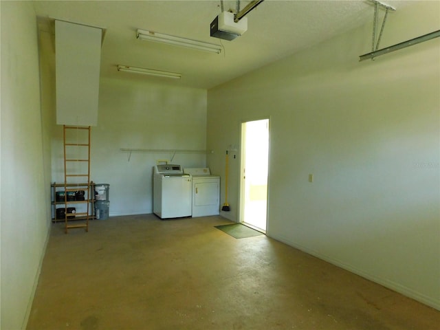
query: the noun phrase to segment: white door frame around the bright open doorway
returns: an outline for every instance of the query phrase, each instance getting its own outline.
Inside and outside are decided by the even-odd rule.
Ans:
[[[266,207],[266,230],[265,230],[265,234],[267,234],[267,232],[269,232],[269,227],[270,227],[270,223],[269,223],[269,201],[270,201],[270,194],[269,194],[269,186],[270,186],[270,127],[271,127],[271,122],[272,122],[272,118],[270,115],[263,115],[261,117],[253,117],[253,118],[246,118],[240,121],[240,155],[239,155],[239,166],[240,166],[240,170],[239,170],[239,179],[240,179],[240,183],[239,183],[239,223],[243,223],[244,222],[244,212],[245,212],[245,208],[244,208],[244,204],[245,204],[245,183],[244,183],[244,165],[245,165],[245,131],[244,131],[244,127],[245,127],[245,123],[246,122],[254,122],[257,120],[269,120],[268,122],[268,127],[267,127],[267,133],[268,133],[268,144],[267,144],[267,199],[266,199],[266,203],[267,203],[267,207]],[[261,228],[259,228],[261,230]]]

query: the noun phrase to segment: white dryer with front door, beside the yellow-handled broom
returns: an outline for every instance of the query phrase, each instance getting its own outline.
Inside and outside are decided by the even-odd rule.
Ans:
[[[209,168],[185,168],[192,177],[192,217],[220,214],[220,177]]]

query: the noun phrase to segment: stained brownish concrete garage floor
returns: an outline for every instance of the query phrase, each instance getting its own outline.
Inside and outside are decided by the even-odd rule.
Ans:
[[[440,311],[226,223],[55,223],[28,329],[439,329]]]

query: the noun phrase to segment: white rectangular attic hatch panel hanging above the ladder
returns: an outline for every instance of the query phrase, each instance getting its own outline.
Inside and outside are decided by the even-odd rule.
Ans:
[[[56,124],[96,126],[102,29],[55,21]]]

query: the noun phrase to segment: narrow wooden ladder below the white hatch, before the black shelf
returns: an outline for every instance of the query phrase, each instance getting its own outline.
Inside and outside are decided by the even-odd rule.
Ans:
[[[94,196],[90,181],[90,126],[63,125],[64,142],[64,198],[65,198],[65,233],[70,228],[85,228],[89,231],[90,202]],[[75,204],[85,204],[85,212],[72,212],[67,207],[68,195],[83,190],[84,200],[75,200]],[[93,212],[93,210],[92,210]],[[76,221],[72,224],[72,221]]]

